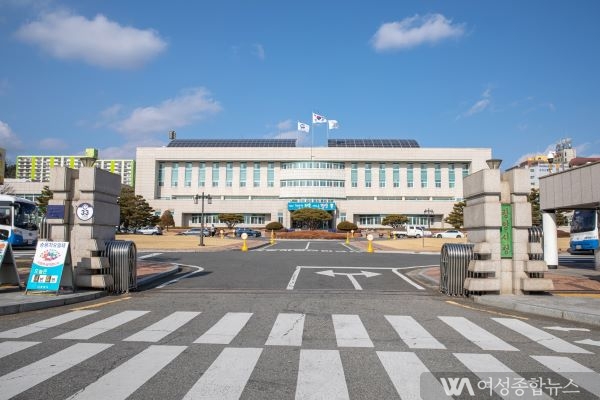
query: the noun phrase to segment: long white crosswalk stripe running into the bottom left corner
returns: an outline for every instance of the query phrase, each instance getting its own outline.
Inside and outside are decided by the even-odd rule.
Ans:
[[[0,400],[10,399],[35,385],[111,347],[106,343],[77,343],[51,356],[0,377]]]

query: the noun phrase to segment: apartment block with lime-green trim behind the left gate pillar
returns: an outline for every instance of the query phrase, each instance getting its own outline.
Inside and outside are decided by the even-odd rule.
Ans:
[[[86,155],[97,154],[95,149],[86,149]],[[78,169],[82,156],[17,156],[17,179],[31,182],[49,182],[52,167]],[[135,160],[97,160],[95,166],[121,176],[121,183],[135,186]]]

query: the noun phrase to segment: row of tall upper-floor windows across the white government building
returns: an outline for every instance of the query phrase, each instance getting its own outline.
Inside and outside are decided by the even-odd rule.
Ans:
[[[166,163],[161,162],[158,166],[158,185],[165,185],[165,171],[166,171]],[[261,182],[261,166],[260,162],[254,162],[253,170],[252,170],[252,185],[254,187],[260,187]],[[284,169],[291,168],[309,168],[307,165],[314,165],[314,168],[327,168],[329,166],[333,169],[342,169],[344,168],[344,163],[332,163],[332,162],[317,162],[317,161],[306,161],[306,162],[294,162],[294,163],[280,163],[281,167]],[[321,165],[322,166],[318,166]],[[284,167],[285,166],[285,167]],[[442,169],[441,163],[434,163],[434,182],[433,186],[436,188],[442,187]],[[419,163],[420,167],[420,186],[421,188],[430,187],[429,182],[429,168],[427,163]],[[191,162],[186,162],[184,165],[184,185],[185,187],[192,186],[192,169],[193,164]],[[198,187],[206,186],[206,163],[200,162],[198,165]],[[247,170],[248,163],[240,162],[239,165],[240,176],[239,176],[239,187],[246,187],[247,185]],[[415,177],[414,177],[414,163],[406,164],[406,187],[412,188],[415,187]],[[211,183],[212,187],[218,187],[220,181],[220,170],[221,163],[213,162],[211,166],[212,170],[212,178]],[[364,164],[364,186],[365,187],[373,187],[373,165],[372,163]],[[386,169],[386,163],[379,163],[378,168],[378,186],[379,187],[387,187],[388,186],[388,175]],[[469,164],[462,164],[462,177],[464,178],[469,174]],[[392,187],[398,188],[400,187],[400,163],[392,164]],[[314,184],[314,182],[318,181],[318,184]],[[299,182],[312,182],[311,184],[301,184]],[[322,184],[322,182],[329,182]],[[335,183],[337,182],[337,183]],[[280,182],[281,187],[288,186],[325,186],[325,187],[344,187],[344,181],[333,181],[333,180],[282,180]],[[350,170],[350,185],[351,187],[358,187],[358,163],[351,163]],[[171,163],[171,187],[179,186],[179,163],[173,162]],[[225,186],[233,187],[233,162],[225,163]],[[267,187],[275,186],[275,163],[270,161],[267,163]],[[455,173],[455,164],[448,163],[448,187],[454,188],[456,187],[456,173]]]

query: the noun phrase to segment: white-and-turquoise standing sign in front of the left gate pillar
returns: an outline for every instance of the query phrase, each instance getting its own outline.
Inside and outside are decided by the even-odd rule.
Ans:
[[[26,290],[44,290],[58,292],[67,260],[69,242],[38,242],[27,280]]]

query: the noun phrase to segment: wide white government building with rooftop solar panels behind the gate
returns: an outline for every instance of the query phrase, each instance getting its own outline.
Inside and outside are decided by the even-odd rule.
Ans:
[[[463,178],[487,168],[489,148],[421,148],[415,140],[329,139],[327,147],[297,147],[296,139],[171,140],[138,147],[135,192],[176,226],[220,224],[218,214],[244,215],[241,226],[279,221],[298,228],[291,212],[330,212],[324,228],[351,221],[383,228],[404,214],[411,224],[449,227],[443,219],[462,200]]]

